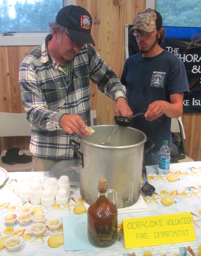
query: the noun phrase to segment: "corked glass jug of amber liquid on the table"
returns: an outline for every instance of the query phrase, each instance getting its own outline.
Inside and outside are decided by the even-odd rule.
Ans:
[[[113,203],[107,195],[113,193]],[[99,179],[98,198],[87,210],[88,240],[96,247],[109,247],[117,239],[117,193],[107,189],[107,180]]]

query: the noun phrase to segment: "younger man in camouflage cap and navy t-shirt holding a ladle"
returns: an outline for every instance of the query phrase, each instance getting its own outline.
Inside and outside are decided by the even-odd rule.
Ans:
[[[164,30],[159,12],[150,8],[140,11],[129,33],[136,36],[140,53],[126,59],[120,81],[126,86],[133,114],[145,112],[131,126],[155,142],[145,155],[145,165],[159,164],[163,140],[172,146],[171,118],[182,115],[183,93],[189,92],[186,71],[179,57],[160,47]]]

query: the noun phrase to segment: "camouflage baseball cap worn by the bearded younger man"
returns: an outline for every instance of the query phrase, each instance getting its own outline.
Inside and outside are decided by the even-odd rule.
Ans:
[[[162,27],[162,16],[159,12],[151,8],[141,10],[134,18],[133,27],[129,33],[133,33],[134,29],[152,32],[156,26]]]

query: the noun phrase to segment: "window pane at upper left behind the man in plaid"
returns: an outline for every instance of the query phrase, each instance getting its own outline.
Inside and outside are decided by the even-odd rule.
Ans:
[[[0,31],[48,31],[62,0],[0,0]]]

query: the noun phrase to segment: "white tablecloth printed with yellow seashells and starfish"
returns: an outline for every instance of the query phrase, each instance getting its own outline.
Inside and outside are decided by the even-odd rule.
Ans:
[[[33,172],[34,177],[49,178],[49,172]],[[83,255],[83,256],[201,256],[201,162],[187,162],[170,165],[170,173],[161,175],[158,166],[147,166],[148,180],[156,188],[155,194],[148,196],[141,192],[148,211],[120,214],[118,227],[122,219],[142,216],[155,216],[191,212],[196,241],[168,244],[160,246],[147,246],[143,248],[125,249],[124,235],[119,233],[121,239],[113,246],[90,251],[64,251],[63,228],[59,230],[46,230],[42,237],[33,237],[30,232],[31,221],[28,226],[20,226],[18,221],[13,226],[6,226],[3,220],[8,213],[20,214],[20,207],[25,203],[15,197],[16,182],[22,181],[24,172],[9,173],[9,178],[0,187],[0,255],[11,255],[5,248],[5,241],[14,236],[22,238],[22,246],[14,255],[20,256],[49,256],[49,255]],[[142,177],[143,184],[144,180]],[[98,192],[97,192],[98,193]],[[71,187],[71,199],[67,205],[42,207],[34,205],[34,213],[45,212],[47,219],[60,218],[67,214],[86,214],[83,200],[80,197],[79,187]],[[86,231],[87,235],[87,231]],[[119,239],[118,239],[119,240]]]

